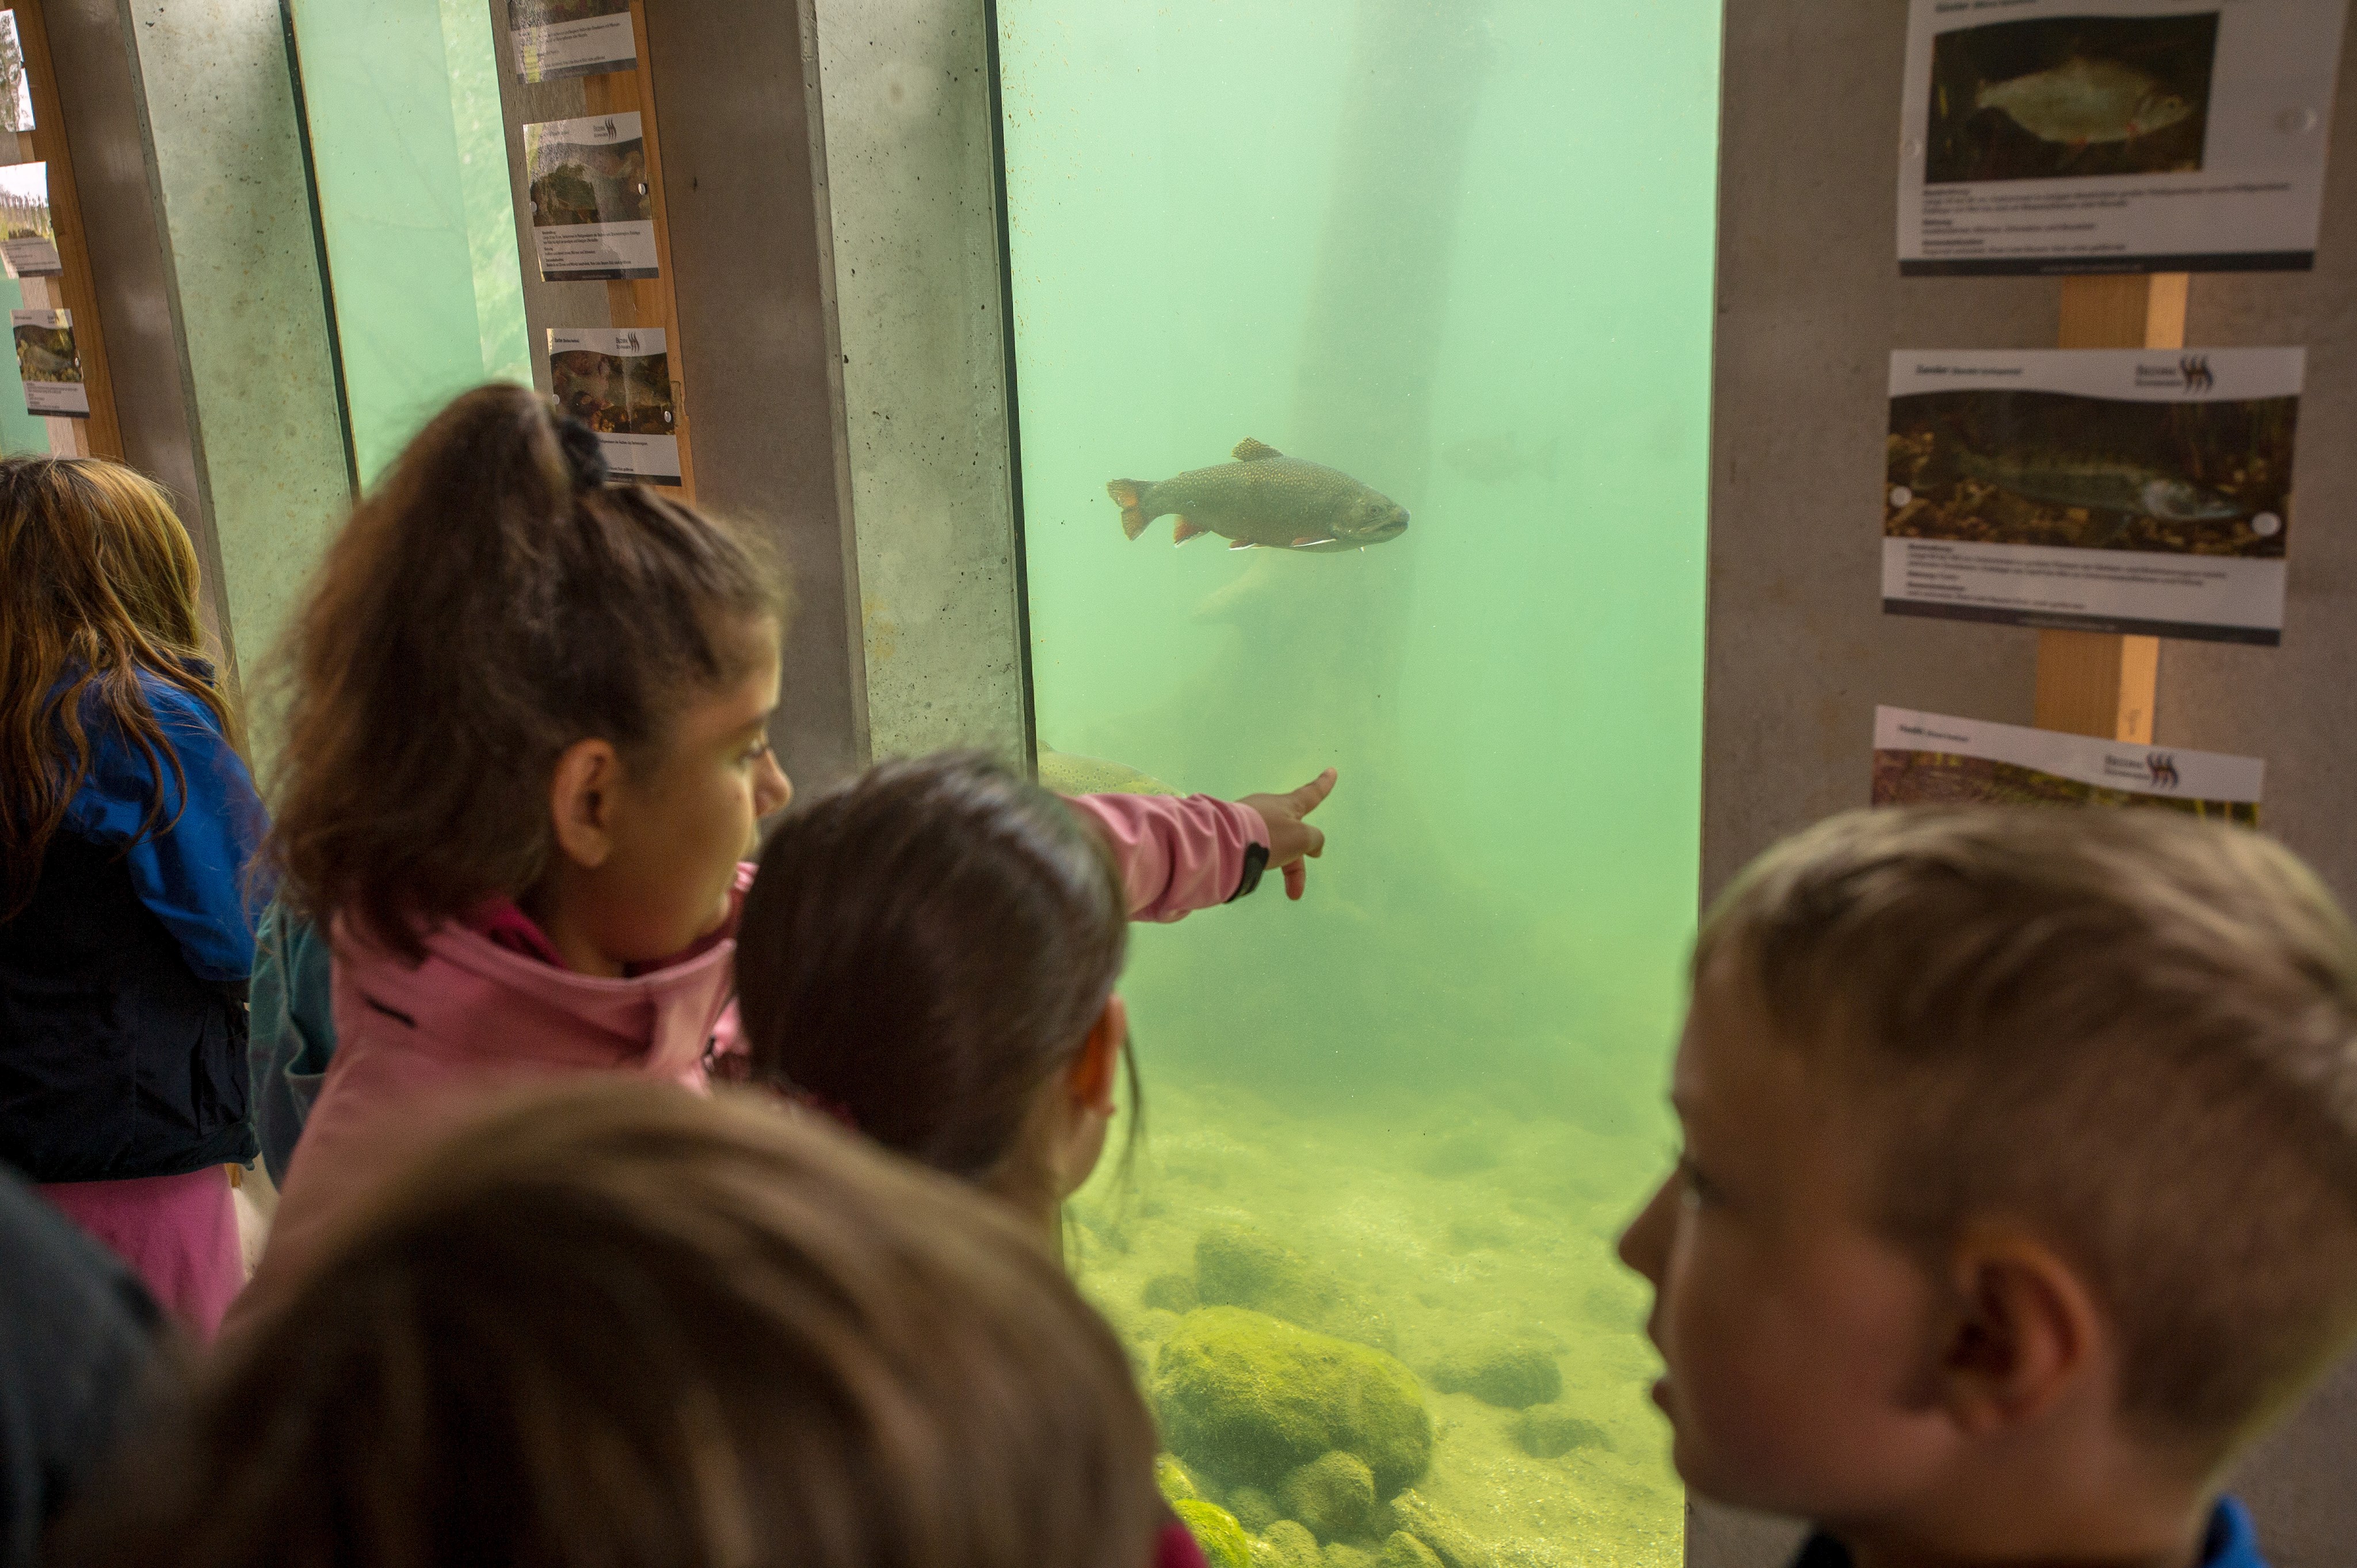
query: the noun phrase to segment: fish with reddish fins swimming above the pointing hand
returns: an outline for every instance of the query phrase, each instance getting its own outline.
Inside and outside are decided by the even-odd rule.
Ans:
[[[1339,469],[1285,457],[1270,445],[1237,443],[1233,464],[1188,469],[1176,478],[1113,480],[1122,532],[1131,539],[1155,518],[1176,513],[1171,544],[1200,534],[1230,551],[1358,551],[1407,532],[1407,509]]]

